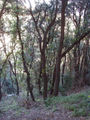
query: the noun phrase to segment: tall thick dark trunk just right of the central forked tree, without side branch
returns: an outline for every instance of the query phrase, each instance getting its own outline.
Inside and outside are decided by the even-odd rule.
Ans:
[[[67,6],[68,0],[62,0],[62,8],[61,8],[61,38],[60,38],[60,45],[58,49],[58,55],[56,59],[56,76],[55,76],[55,85],[54,85],[54,95],[58,95],[59,90],[59,82],[60,82],[60,64],[62,58],[62,49],[63,49],[63,42],[64,42],[64,27],[65,27],[65,9]]]

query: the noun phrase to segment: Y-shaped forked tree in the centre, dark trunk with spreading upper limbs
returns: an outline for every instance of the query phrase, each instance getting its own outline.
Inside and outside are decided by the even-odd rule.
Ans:
[[[44,4],[45,5],[45,4]],[[43,88],[43,97],[44,99],[47,98],[47,88],[48,88],[48,80],[47,80],[47,75],[46,75],[46,55],[45,55],[45,51],[47,48],[47,44],[49,43],[50,39],[48,39],[48,34],[49,31],[51,30],[51,28],[53,27],[53,25],[55,24],[55,20],[56,20],[56,16],[57,16],[57,6],[58,6],[58,0],[56,0],[56,9],[55,9],[55,14],[54,17],[51,18],[50,22],[48,24],[46,24],[46,26],[43,28],[42,25],[44,25],[44,20],[47,18],[47,6],[45,8],[45,10],[43,11],[44,16],[42,16],[42,19],[40,21],[35,20],[34,14],[32,12],[32,9],[30,9],[30,14],[32,16],[33,22],[35,24],[35,28],[38,34],[38,42],[39,42],[39,49],[40,49],[40,53],[41,53],[41,66],[40,66],[40,77],[42,74],[42,79],[43,79],[43,83],[44,83],[44,88]],[[42,12],[42,7],[40,8],[40,12]],[[40,12],[38,13],[38,18],[40,15]],[[50,18],[48,18],[50,19]],[[38,23],[40,22],[40,23]],[[38,26],[39,24],[39,26]],[[41,35],[41,31],[42,31],[42,35]]]

